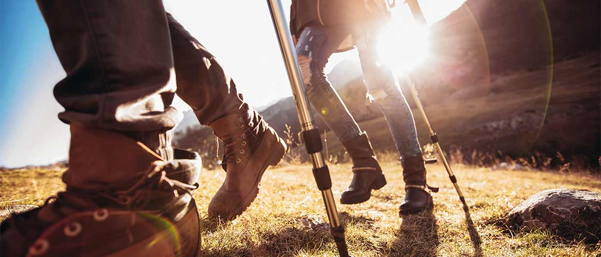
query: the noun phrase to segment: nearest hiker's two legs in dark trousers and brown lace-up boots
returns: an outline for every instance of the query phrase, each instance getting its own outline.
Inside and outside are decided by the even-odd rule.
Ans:
[[[285,151],[213,55],[162,1],[38,0],[66,71],[54,94],[71,127],[67,190],[2,223],[4,256],[192,256],[200,157],[171,146],[177,93],[225,142],[224,184],[209,215],[235,218]],[[102,236],[96,238],[97,236]],[[102,240],[106,237],[107,240]]]

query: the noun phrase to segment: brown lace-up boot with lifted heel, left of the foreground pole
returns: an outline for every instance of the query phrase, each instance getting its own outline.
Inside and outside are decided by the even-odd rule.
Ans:
[[[209,125],[225,143],[224,184],[209,203],[209,217],[233,220],[257,197],[263,173],[284,157],[284,139],[256,111],[243,104],[238,114]]]

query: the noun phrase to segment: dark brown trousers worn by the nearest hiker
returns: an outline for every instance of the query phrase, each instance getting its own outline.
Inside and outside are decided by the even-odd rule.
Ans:
[[[67,73],[54,94],[59,119],[115,131],[157,131],[182,119],[177,93],[201,124],[242,105],[215,57],[160,0],[38,0]]]

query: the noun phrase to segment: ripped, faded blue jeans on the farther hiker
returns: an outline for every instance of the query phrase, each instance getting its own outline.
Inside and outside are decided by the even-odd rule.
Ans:
[[[341,142],[362,134],[323,72],[330,55],[348,35],[345,31],[333,27],[307,26],[296,45],[309,101]],[[398,152],[402,157],[421,155],[411,109],[392,70],[377,60],[374,47],[377,37],[367,33],[355,40],[367,91],[384,114]]]

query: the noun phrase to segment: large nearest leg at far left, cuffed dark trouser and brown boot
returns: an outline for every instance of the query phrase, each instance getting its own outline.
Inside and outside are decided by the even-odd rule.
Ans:
[[[66,109],[59,119],[71,126],[67,189],[5,220],[0,255],[195,255],[200,158],[172,150],[165,133],[182,116],[169,106],[175,83],[162,2],[38,5],[67,73],[54,90]]]

